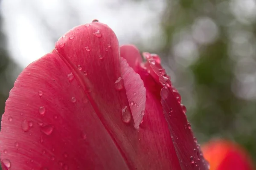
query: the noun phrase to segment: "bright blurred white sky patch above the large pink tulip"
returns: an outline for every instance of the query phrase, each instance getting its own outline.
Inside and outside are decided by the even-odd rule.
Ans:
[[[150,45],[160,34],[164,0],[3,0],[1,5],[10,55],[26,67],[50,52],[62,34],[93,19],[110,26],[120,44]]]

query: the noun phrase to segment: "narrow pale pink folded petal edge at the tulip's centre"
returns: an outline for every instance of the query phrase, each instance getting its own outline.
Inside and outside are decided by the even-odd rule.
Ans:
[[[138,129],[145,114],[146,89],[140,75],[136,74],[133,68],[129,67],[127,61],[122,57],[120,57],[120,65],[127,99],[134,120],[134,127]]]

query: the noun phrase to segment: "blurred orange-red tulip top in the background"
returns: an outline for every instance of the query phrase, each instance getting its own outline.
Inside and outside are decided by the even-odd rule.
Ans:
[[[254,170],[250,156],[238,144],[214,140],[202,147],[210,170]]]

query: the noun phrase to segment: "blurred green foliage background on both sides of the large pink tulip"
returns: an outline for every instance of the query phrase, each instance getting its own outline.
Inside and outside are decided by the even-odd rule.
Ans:
[[[247,8],[239,3],[247,3]],[[157,45],[152,50],[139,40],[134,43],[143,51],[160,54],[199,142],[236,141],[256,162],[256,14],[252,4],[254,0],[166,0]],[[10,58],[6,42],[2,31],[1,114],[22,70]]]

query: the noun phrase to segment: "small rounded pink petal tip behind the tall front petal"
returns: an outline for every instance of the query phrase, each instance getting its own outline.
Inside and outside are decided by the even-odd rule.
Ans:
[[[122,45],[120,47],[120,54],[121,57],[125,57],[129,66],[137,72],[140,63],[142,63],[142,57],[138,48],[134,45]]]

